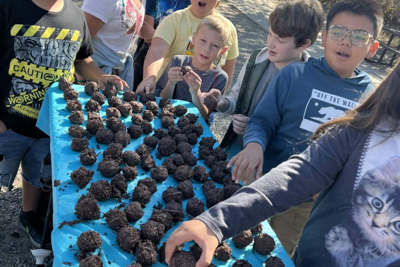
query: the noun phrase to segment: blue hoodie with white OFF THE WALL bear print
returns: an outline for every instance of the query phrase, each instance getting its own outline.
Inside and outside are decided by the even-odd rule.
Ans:
[[[264,150],[263,173],[306,149],[318,126],[358,106],[372,90],[372,80],[356,69],[340,78],[325,58],[310,58],[282,68],[268,86],[247,123],[243,145],[259,143]]]

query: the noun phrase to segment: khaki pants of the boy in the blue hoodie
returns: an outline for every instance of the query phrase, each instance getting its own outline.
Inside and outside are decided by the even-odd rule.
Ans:
[[[303,203],[270,218],[270,226],[290,258],[293,257],[296,251],[313,205],[314,201]]]

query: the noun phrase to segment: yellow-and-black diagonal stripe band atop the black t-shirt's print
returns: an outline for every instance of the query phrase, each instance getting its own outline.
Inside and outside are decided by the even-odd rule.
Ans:
[[[38,25],[15,24],[10,31],[11,36],[39,37],[46,39],[82,41],[79,30],[58,29]]]

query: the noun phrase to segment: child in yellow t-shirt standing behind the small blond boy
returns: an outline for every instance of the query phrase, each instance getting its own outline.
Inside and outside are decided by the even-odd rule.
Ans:
[[[162,20],[154,33],[152,44],[144,61],[143,81],[139,84],[136,92],[146,92],[146,94],[154,92],[156,80],[160,78],[173,56],[193,55],[193,33],[200,20],[209,15],[224,19],[230,31],[230,39],[227,44],[228,51],[214,61],[216,66],[220,66],[228,74],[226,88],[229,88],[235,69],[236,57],[239,55],[238,39],[232,22],[216,12],[220,1],[191,0],[192,4],[188,8],[176,11]]]

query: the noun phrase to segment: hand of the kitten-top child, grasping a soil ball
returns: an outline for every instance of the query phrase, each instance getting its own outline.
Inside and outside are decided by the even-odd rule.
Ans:
[[[182,223],[168,238],[165,247],[165,262],[167,264],[170,263],[176,247],[192,240],[202,249],[201,257],[197,261],[196,267],[207,267],[210,265],[219,241],[205,223],[196,219]]]

